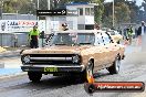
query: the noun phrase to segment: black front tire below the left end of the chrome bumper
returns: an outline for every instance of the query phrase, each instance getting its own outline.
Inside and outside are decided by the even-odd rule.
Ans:
[[[39,72],[28,72],[28,76],[32,83],[39,83],[42,77],[42,74]]]

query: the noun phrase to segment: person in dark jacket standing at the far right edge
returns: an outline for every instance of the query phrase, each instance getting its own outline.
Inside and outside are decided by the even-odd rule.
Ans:
[[[145,22],[142,21],[142,25],[137,31],[138,44],[142,44],[142,51],[146,50],[146,26]]]

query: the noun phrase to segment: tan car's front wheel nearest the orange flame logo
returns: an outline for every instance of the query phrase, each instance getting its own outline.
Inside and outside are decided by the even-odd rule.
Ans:
[[[81,78],[82,82],[86,82],[87,83],[87,73],[90,74],[90,76],[93,76],[93,67],[94,64],[92,61],[88,61],[86,68],[83,71],[83,73],[81,74]]]

